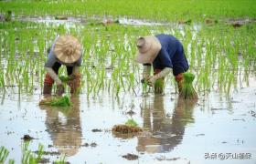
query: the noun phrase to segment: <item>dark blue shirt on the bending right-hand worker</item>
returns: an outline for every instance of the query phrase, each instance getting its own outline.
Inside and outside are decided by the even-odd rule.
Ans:
[[[156,37],[160,41],[162,48],[153,61],[153,67],[157,69],[171,67],[175,76],[186,72],[188,63],[180,41],[175,36],[165,34],[160,34]]]

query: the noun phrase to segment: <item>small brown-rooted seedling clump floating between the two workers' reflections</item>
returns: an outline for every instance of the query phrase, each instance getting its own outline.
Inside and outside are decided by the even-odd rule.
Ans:
[[[124,125],[115,125],[112,128],[113,133],[122,133],[122,134],[129,134],[129,133],[138,133],[143,131],[142,128],[138,127],[138,124],[133,120],[129,119]]]

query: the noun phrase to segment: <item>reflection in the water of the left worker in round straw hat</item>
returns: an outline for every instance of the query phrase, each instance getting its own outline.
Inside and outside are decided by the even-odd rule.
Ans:
[[[53,145],[67,156],[75,155],[81,144],[80,98],[71,97],[71,103],[72,107],[66,109],[39,106],[46,110],[46,126]]]

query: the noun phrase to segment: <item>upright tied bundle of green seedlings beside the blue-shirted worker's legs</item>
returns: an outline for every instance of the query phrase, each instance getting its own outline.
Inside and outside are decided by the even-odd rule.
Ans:
[[[192,73],[187,72],[183,74],[183,77],[182,89],[179,96],[184,99],[197,99],[197,92],[192,85],[195,76]]]

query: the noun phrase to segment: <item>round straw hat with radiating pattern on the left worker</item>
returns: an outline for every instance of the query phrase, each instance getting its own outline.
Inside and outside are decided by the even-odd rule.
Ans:
[[[54,53],[64,63],[74,63],[81,56],[81,45],[74,36],[59,36],[55,42]]]

